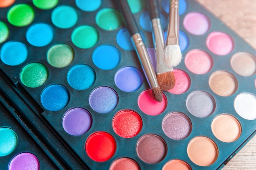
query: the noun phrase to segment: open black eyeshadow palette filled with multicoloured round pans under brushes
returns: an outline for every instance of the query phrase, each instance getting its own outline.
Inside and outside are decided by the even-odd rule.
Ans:
[[[146,1],[128,2],[156,68]],[[159,5],[166,36],[169,0]],[[221,169],[255,135],[256,51],[193,0],[180,0],[183,60],[162,102],[112,1],[6,0],[0,8],[0,91],[13,110],[1,111],[0,130],[40,148],[18,143],[0,155],[4,169],[22,153],[35,154],[40,169],[47,161],[62,170]]]

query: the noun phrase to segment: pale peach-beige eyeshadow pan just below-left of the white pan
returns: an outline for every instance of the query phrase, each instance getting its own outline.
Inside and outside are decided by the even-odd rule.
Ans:
[[[240,137],[242,127],[232,115],[221,114],[213,119],[211,130],[220,141],[234,142]]]

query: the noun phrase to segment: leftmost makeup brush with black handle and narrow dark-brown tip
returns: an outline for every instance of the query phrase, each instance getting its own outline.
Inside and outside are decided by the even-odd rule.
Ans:
[[[157,83],[157,78],[152,63],[150,61],[148,51],[141,38],[139,27],[137,26],[136,20],[132,15],[132,12],[130,11],[128,2],[126,0],[116,0],[115,2],[118,4],[119,9],[124,16],[126,27],[131,35],[131,40],[137,52],[137,56],[139,58],[141,66],[142,68],[144,68],[144,73],[148,79],[148,84],[150,85],[153,96],[157,102],[162,102],[163,94],[161,88]]]

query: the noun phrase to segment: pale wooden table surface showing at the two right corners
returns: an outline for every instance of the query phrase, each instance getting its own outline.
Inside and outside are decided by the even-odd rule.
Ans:
[[[256,0],[196,1],[256,49]],[[222,170],[256,170],[256,136]]]

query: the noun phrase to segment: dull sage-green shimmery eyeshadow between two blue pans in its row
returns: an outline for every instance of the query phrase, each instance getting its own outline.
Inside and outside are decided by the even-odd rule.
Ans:
[[[74,59],[74,50],[67,44],[56,44],[46,54],[47,62],[54,67],[63,68],[71,64]]]

